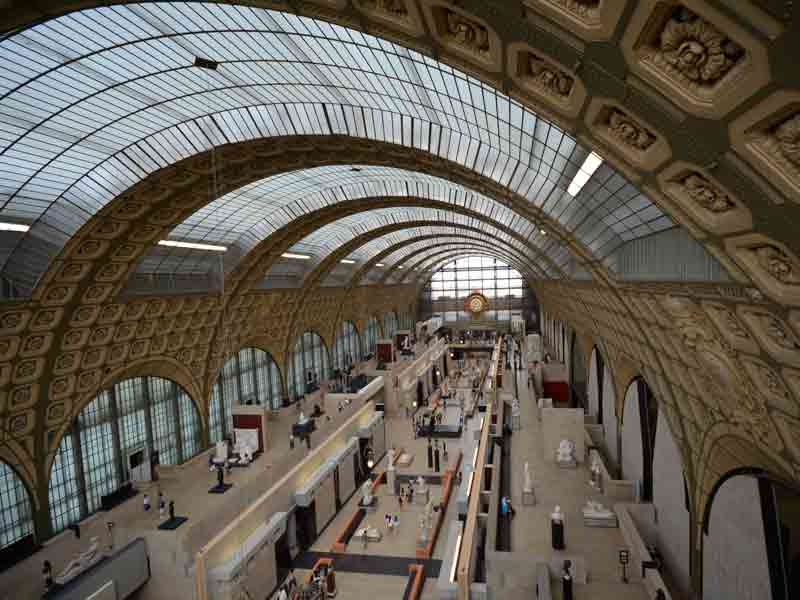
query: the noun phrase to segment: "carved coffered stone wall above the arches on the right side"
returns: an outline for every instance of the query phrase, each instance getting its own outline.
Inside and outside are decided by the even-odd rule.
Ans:
[[[590,292],[587,286],[572,282],[540,282],[540,285],[572,289],[572,294],[566,295],[569,298],[580,298]],[[702,288],[707,286],[699,287],[702,292]],[[593,299],[594,303],[603,302],[602,296],[607,293],[601,292],[600,298]],[[682,293],[686,294],[686,290],[682,290]],[[565,291],[560,294],[559,297],[565,297]],[[667,375],[665,379],[661,375],[662,369],[652,368],[658,363],[655,356],[650,356],[646,359],[649,365],[646,377],[651,386],[653,381],[659,382],[660,402],[667,400],[662,396],[663,390],[670,387],[667,381],[673,382],[674,400],[668,401],[668,405],[677,401],[675,406],[680,422],[687,428],[685,439],[691,447],[692,461],[703,460],[701,440],[705,432],[714,427],[714,423],[724,423],[733,428],[740,439],[747,439],[748,447],[766,448],[765,452],[771,456],[771,460],[782,464],[785,472],[800,471],[800,429],[795,429],[800,425],[800,394],[796,387],[798,371],[790,367],[781,368],[780,363],[776,367],[774,362],[776,358],[790,363],[797,359],[797,354],[794,354],[796,332],[792,331],[790,324],[765,305],[747,304],[746,298],[731,304],[730,298],[718,296],[719,300],[707,300],[700,304],[686,296],[667,295],[662,296],[661,305],[671,326],[667,335],[661,336],[655,318],[647,316],[648,312],[652,312],[652,308],[642,300],[647,296],[637,296],[637,300],[629,301],[631,316],[634,320],[644,318],[645,321],[653,321],[649,326],[650,331],[659,356],[665,357],[661,362],[664,364],[663,372]],[[552,294],[540,296],[540,302],[547,310],[550,310],[549,303],[553,299]],[[568,308],[572,304],[562,303]],[[589,303],[591,305],[592,302]],[[616,307],[616,310],[619,311],[620,307]],[[749,321],[740,318],[737,313],[751,315]],[[602,310],[592,310],[592,314],[601,322],[608,321],[608,316],[604,316]],[[636,349],[637,343],[631,343],[632,340],[619,339],[622,327],[621,321],[611,328],[601,324],[600,335],[612,341],[613,345]],[[792,356],[773,356],[776,349],[773,349],[772,355],[762,352],[756,338],[750,333],[754,328],[761,329],[760,335],[764,338],[771,335],[775,338],[772,343],[776,348],[792,352]],[[717,334],[716,330],[720,333]],[[664,340],[674,336],[682,340],[682,347],[677,352],[664,345]],[[636,351],[647,354],[646,348]],[[754,356],[742,354],[742,351]],[[763,358],[759,358],[759,355]],[[677,366],[673,367],[676,358],[686,362],[675,363]],[[697,369],[698,365],[702,371]],[[683,390],[702,390],[702,393],[687,396]],[[679,437],[682,439],[684,436]],[[746,465],[745,461],[738,466]]]

